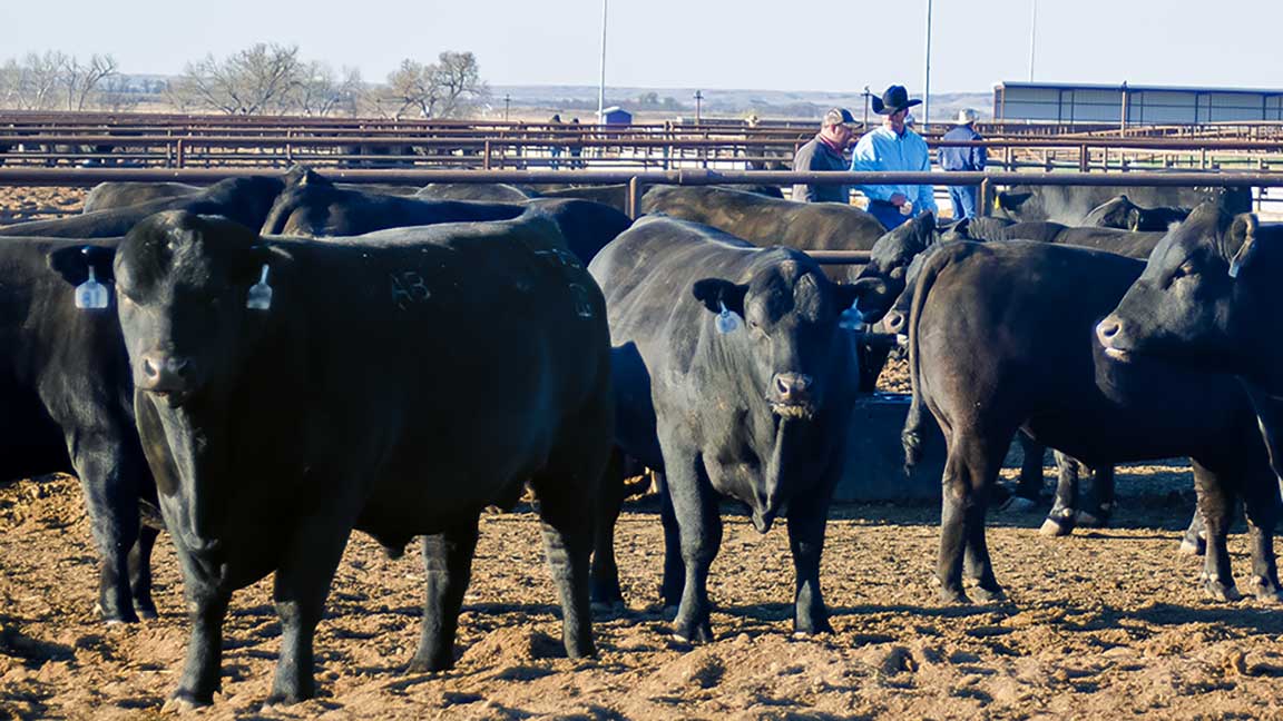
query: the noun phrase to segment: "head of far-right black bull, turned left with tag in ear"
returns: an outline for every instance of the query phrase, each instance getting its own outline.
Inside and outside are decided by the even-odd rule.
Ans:
[[[1106,354],[1126,360],[1153,354],[1243,373],[1252,335],[1246,316],[1255,296],[1277,282],[1253,266],[1256,217],[1230,216],[1203,203],[1153,249],[1144,273],[1096,327]],[[1269,301],[1265,301],[1269,303]]]

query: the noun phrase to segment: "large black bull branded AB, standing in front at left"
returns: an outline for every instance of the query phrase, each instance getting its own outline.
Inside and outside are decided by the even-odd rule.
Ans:
[[[282,650],[271,698],[314,693],[312,638],[353,529],[389,548],[425,535],[412,667],[450,666],[477,516],[527,480],[567,653],[593,652],[609,336],[600,293],[552,222],[264,242],[166,213],[122,241],[114,273],[190,609],[180,703],[212,700],[231,594],[272,572]]]

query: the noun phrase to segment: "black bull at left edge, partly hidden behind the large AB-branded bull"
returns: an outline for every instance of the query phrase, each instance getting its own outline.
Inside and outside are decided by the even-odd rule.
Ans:
[[[155,617],[157,531],[139,518],[140,499],[155,502],[155,484],[133,425],[119,323],[109,310],[77,309],[67,281],[87,280],[87,258],[98,259],[105,280],[115,242],[0,240],[0,477],[55,471],[80,477],[100,557],[98,603],[108,622]]]

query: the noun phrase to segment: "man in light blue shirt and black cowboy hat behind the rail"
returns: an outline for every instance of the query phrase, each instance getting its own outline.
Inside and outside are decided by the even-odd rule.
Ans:
[[[872,99],[874,112],[885,115],[883,126],[865,133],[856,145],[851,169],[856,172],[930,172],[931,154],[922,136],[905,126],[908,109],[921,100],[910,100],[902,85],[887,89]],[[869,212],[883,227],[892,230],[913,216],[935,212],[935,190],[929,185],[861,185],[869,199]]]

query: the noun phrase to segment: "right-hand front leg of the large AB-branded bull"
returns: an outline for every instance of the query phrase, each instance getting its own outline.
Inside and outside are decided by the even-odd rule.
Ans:
[[[343,508],[357,503],[343,500]],[[352,534],[346,513],[307,518],[276,571],[273,599],[281,618],[281,657],[267,703],[298,703],[316,695],[313,638],[325,612],[335,568]]]

